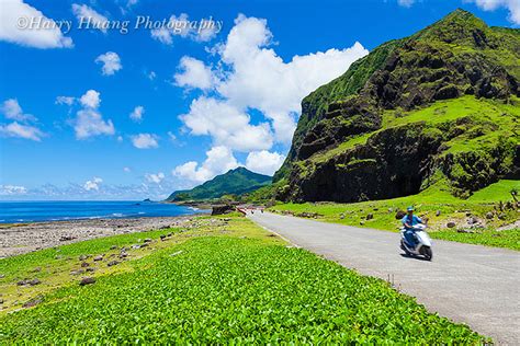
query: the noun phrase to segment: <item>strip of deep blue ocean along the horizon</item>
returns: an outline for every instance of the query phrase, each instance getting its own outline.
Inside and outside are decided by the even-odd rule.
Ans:
[[[0,201],[0,223],[176,217],[199,212],[205,211],[152,201]]]

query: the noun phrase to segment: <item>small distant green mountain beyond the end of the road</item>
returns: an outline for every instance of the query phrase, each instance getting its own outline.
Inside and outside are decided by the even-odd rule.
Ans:
[[[176,191],[167,201],[203,200],[224,195],[240,195],[271,184],[272,177],[253,173],[245,168],[230,170],[192,189]]]

